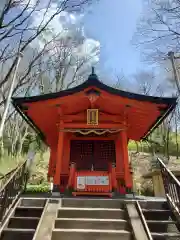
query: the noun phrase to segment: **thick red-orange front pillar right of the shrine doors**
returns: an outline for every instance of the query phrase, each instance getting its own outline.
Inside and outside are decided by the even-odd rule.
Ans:
[[[127,133],[126,131],[121,131],[120,135],[121,135],[125,185],[126,185],[126,188],[132,189],[132,177],[131,177],[130,168],[129,168]]]

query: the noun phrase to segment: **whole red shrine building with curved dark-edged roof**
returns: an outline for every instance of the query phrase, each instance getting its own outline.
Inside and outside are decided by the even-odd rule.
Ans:
[[[146,139],[177,99],[121,91],[92,73],[77,87],[12,101],[50,148],[55,191],[111,197],[132,192],[128,141]]]

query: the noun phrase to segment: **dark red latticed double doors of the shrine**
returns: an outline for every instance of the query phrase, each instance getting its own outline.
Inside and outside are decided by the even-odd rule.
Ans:
[[[115,162],[114,141],[71,141],[70,162],[75,162],[77,170],[107,171],[109,162]]]

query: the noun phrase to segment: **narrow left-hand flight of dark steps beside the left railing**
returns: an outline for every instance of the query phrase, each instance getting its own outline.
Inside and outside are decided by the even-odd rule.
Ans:
[[[32,240],[45,203],[45,199],[20,199],[0,231],[0,240]]]

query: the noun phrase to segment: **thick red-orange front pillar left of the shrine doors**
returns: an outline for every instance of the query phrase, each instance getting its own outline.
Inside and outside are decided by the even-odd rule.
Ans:
[[[60,178],[61,178],[61,172],[62,172],[63,146],[64,146],[64,132],[59,131],[54,185],[60,185],[60,181],[61,181]]]

